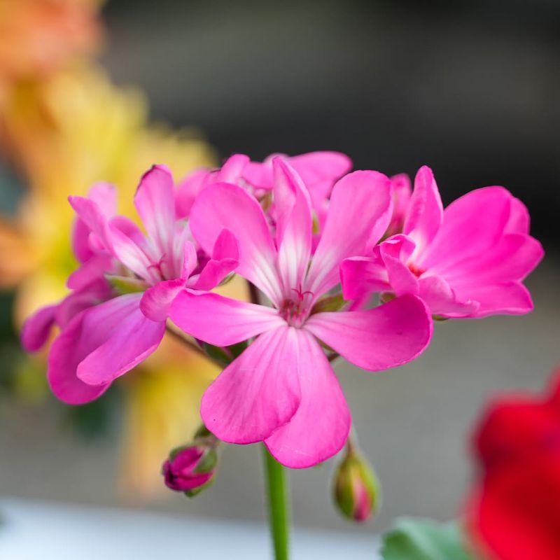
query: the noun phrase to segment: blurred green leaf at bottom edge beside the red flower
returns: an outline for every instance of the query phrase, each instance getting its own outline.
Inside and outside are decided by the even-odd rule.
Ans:
[[[383,535],[384,560],[474,560],[463,545],[456,523],[440,524],[430,519],[399,519]]]

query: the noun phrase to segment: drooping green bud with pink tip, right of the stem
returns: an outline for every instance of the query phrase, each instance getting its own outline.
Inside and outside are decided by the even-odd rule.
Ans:
[[[366,521],[379,505],[377,478],[350,442],[337,468],[334,498],[339,512],[353,521]]]

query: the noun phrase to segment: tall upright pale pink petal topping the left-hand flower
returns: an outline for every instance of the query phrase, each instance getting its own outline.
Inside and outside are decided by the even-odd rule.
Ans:
[[[167,167],[154,165],[142,176],[134,205],[160,255],[169,258],[173,253],[175,190]]]

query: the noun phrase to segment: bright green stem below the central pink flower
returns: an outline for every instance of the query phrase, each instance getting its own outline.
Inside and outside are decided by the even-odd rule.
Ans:
[[[288,560],[288,496],[286,495],[286,473],[283,466],[269,454],[263,445],[265,481],[268,493],[269,526],[274,545],[274,559]]]

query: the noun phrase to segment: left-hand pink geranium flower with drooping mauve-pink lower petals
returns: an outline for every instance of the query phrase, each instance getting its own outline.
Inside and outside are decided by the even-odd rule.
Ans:
[[[167,311],[185,286],[209,290],[237,266],[237,244],[227,231],[197,263],[188,223],[176,219],[172,175],[155,166],[141,179],[134,203],[147,235],[115,216],[116,195],[100,186],[90,197],[70,197],[78,214],[73,246],[82,263],[68,281],[73,292],[27,321],[22,342],[40,348],[53,323],[48,381],[65,402],[97,398],[111,382],[147,358],[160,344]]]

